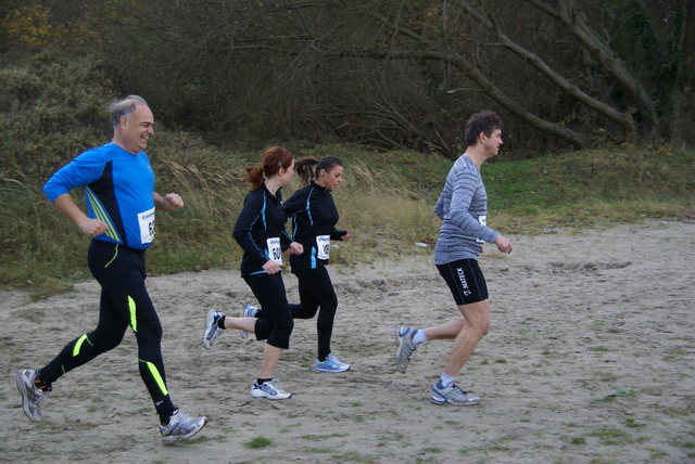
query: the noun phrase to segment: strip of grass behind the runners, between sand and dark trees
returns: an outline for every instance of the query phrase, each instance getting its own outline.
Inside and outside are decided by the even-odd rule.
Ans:
[[[451,159],[336,144],[298,144],[294,153],[337,155],[345,165],[345,181],[333,197],[340,211],[338,227],[351,230],[353,239],[331,252],[334,262],[349,267],[413,255],[420,249],[416,242],[430,246],[437,242],[441,221],[433,207]],[[157,132],[149,150],[157,191],[176,191],[186,205],[157,212],[157,235],[148,252],[151,275],[238,269],[241,249],[231,229],[248,192],[241,181],[243,168],[255,164],[258,154],[215,147],[182,132]],[[33,170],[23,171],[22,166]],[[48,203],[42,184],[51,172],[37,176],[36,166],[15,164],[3,170],[0,166],[0,287],[28,288],[42,297],[90,278],[89,239]],[[489,194],[488,223],[514,236],[647,217],[691,220],[693,166],[693,151],[633,146],[486,163],[482,176]],[[285,188],[285,197],[299,186],[293,180]],[[83,202],[81,192],[73,193]],[[670,352],[667,361],[681,356]]]

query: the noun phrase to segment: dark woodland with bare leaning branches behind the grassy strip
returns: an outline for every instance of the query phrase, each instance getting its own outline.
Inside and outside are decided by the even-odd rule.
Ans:
[[[43,134],[75,155],[128,93],[220,146],[455,157],[490,108],[513,157],[690,149],[694,18],[686,0],[4,0],[0,149],[30,153]]]

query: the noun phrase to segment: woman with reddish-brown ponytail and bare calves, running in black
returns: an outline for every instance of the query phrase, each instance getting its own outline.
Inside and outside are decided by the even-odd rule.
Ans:
[[[251,387],[251,395],[282,400],[290,398],[291,394],[275,384],[273,370],[282,350],[290,347],[294,322],[282,282],[281,254],[303,253],[302,245],[292,241],[285,230],[282,210],[281,189],[294,175],[294,160],[288,150],[274,146],[263,154],[258,165],[247,171],[251,192],[244,199],[232,235],[243,249],[241,276],[261,306],[266,308],[265,317],[228,318],[210,310],[205,319],[203,346],[210,349],[225,328],[252,332],[258,340],[266,340],[261,374]]]

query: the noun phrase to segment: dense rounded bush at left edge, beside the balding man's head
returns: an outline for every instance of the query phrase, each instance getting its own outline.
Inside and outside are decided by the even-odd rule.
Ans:
[[[46,178],[111,133],[115,96],[93,56],[38,55],[0,69],[0,171]]]

